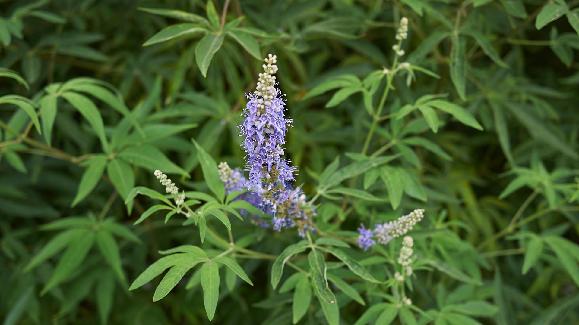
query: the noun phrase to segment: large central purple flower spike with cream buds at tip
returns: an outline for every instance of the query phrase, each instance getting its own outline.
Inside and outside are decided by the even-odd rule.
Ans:
[[[261,197],[259,209],[273,215],[274,230],[297,226],[303,237],[308,228],[312,229],[310,219],[316,210],[302,209],[306,197],[292,184],[296,167],[283,158],[285,132],[292,120],[285,117],[284,95],[276,88],[276,62],[272,54],[265,58],[256,90],[247,94],[249,102],[243,110],[245,121],[240,127],[247,152],[247,187]]]

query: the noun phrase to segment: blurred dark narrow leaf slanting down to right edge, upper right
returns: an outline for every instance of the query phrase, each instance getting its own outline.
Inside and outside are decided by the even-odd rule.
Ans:
[[[530,115],[528,110],[513,102],[505,101],[504,104],[506,104],[506,107],[510,110],[512,115],[514,115],[516,119],[521,122],[521,124],[525,125],[533,138],[547,143],[548,145],[560,150],[560,152],[566,154],[567,156],[573,157],[575,159],[579,158],[579,154],[572,147],[559,139],[558,136],[553,134],[534,116]]]

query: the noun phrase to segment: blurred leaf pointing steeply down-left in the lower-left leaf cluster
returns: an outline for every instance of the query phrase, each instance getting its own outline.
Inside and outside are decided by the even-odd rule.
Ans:
[[[41,295],[69,279],[69,276],[76,271],[76,268],[85,260],[86,254],[89,253],[90,248],[93,246],[94,237],[94,231],[84,230],[80,237],[71,241],[71,244],[60,258],[60,261],[58,261],[56,268],[54,268],[54,272],[52,276],[50,276],[46,286],[42,289]]]

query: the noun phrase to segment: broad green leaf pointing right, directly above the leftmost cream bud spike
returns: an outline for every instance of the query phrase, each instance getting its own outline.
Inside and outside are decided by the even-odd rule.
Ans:
[[[188,178],[191,177],[185,169],[175,165],[161,150],[152,145],[125,148],[117,157],[129,162],[129,164],[149,169],[149,171],[159,169],[164,173],[177,173]]]

